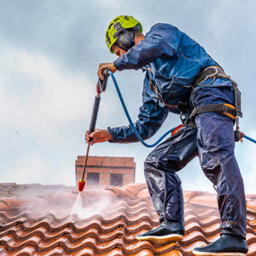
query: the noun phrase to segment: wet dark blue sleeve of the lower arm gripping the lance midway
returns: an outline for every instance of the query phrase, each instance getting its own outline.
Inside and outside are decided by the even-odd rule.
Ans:
[[[148,72],[146,72],[144,79],[144,87],[142,92],[142,106],[139,108],[138,120],[133,124],[138,131],[138,134],[143,140],[153,136],[156,131],[161,127],[162,123],[168,115],[168,110],[162,108],[160,105],[155,110],[155,101],[147,92],[149,89]],[[138,142],[135,133],[133,132],[130,124],[127,126],[107,128],[111,133],[113,139],[111,143],[131,143]]]

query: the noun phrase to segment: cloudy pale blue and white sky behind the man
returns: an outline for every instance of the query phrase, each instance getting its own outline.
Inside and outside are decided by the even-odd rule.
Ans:
[[[131,15],[147,32],[170,23],[202,45],[238,83],[240,130],[256,138],[256,1],[251,0],[0,0],[0,182],[75,185],[75,159],[85,155],[98,64],[116,59],[105,29],[117,15]],[[133,121],[141,106],[144,74],[116,71]],[[96,127],[127,125],[109,79]],[[180,124],[169,114],[147,143]],[[94,144],[90,155],[134,157],[136,182],[145,182],[143,162],[152,149],[140,143]],[[235,155],[245,192],[256,193],[256,145],[244,139]],[[177,173],[183,190],[214,192],[198,158]]]

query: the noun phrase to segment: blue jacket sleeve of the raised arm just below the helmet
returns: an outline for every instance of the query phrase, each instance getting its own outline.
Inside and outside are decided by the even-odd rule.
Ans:
[[[127,53],[114,60],[117,70],[139,69],[161,56],[176,53],[180,40],[179,30],[170,24],[157,23],[151,27],[145,39],[131,47]]]

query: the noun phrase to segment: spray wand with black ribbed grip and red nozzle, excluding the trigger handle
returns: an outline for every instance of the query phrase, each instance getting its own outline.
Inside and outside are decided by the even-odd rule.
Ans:
[[[90,119],[90,127],[89,127],[89,134],[92,133],[95,130],[96,126],[96,120],[97,120],[97,115],[98,115],[98,108],[99,108],[99,102],[100,102],[100,84],[97,82],[97,95],[94,98],[94,104],[93,104],[93,109],[92,109],[92,115]],[[82,177],[80,178],[78,182],[78,190],[82,191],[85,185],[85,179],[84,179],[84,174],[86,170],[86,165],[87,165],[87,160],[88,160],[88,154],[89,154],[89,149],[90,149],[90,142],[93,140],[93,138],[90,137],[88,146],[87,146],[87,152],[84,160],[84,165],[83,165],[83,171],[82,171]]]

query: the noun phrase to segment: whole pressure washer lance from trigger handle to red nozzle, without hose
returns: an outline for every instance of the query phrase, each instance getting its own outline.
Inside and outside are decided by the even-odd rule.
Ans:
[[[92,114],[91,114],[91,119],[90,119],[90,127],[89,127],[89,135],[90,133],[92,133],[95,130],[95,126],[96,126],[96,120],[97,120],[97,115],[98,115],[98,108],[99,108],[99,103],[100,103],[100,93],[102,91],[105,91],[106,89],[106,82],[107,82],[107,77],[108,74],[106,73],[106,69],[103,69],[103,80],[101,80],[100,78],[98,78],[98,82],[96,85],[96,91],[97,91],[97,95],[94,98],[94,104],[93,104],[93,109],[92,109]],[[110,69],[108,69],[110,70]],[[85,160],[84,160],[84,165],[83,165],[83,170],[82,170],[82,177],[79,180],[78,183],[78,190],[82,191],[85,185],[85,179],[84,179],[84,173],[86,170],[86,165],[87,165],[87,160],[88,160],[88,154],[89,154],[89,149],[90,149],[90,142],[93,140],[93,138],[90,137],[89,142],[88,142],[88,146],[87,146],[87,152],[86,152],[86,156],[85,156]]]

